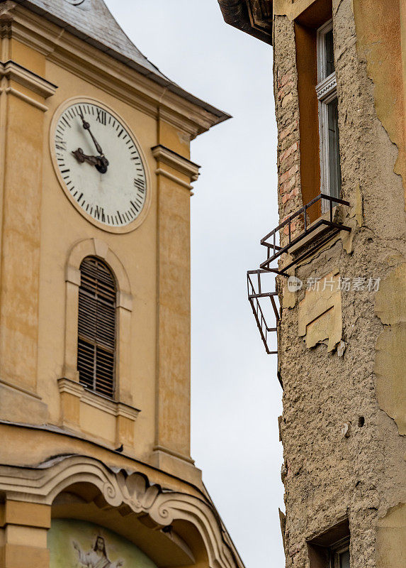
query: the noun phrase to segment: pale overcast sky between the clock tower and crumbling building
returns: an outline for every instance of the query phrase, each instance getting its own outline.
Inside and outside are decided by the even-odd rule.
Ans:
[[[165,75],[234,117],[191,148],[192,457],[245,566],[282,567],[282,393],[246,290],[278,224],[272,51],[217,0],[105,1]]]

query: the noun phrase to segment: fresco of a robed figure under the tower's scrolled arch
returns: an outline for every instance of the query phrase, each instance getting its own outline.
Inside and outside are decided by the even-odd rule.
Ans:
[[[50,568],[157,568],[129,540],[82,520],[52,520],[48,548]]]

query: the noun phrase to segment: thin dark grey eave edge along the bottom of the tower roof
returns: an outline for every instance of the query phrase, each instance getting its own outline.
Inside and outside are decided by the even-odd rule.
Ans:
[[[0,0],[0,2],[1,1],[4,1],[4,0]],[[43,16],[44,18],[51,21],[52,23],[55,23],[57,26],[64,28],[64,30],[68,31],[69,33],[72,33],[72,35],[75,35],[77,38],[84,40],[86,43],[89,43],[89,45],[92,45],[94,48],[97,48],[97,49],[101,50],[103,53],[106,53],[106,55],[110,55],[110,57],[112,57],[113,59],[120,61],[124,65],[127,65],[131,69],[139,72],[141,75],[148,77],[150,80],[161,85],[162,87],[165,87],[170,92],[173,92],[174,94],[178,95],[182,99],[185,99],[186,101],[190,102],[191,104],[196,105],[196,107],[205,110],[209,114],[212,114],[216,118],[216,120],[213,122],[213,126],[215,126],[216,124],[220,124],[220,122],[222,122],[222,121],[225,121],[227,119],[232,118],[230,114],[227,114],[223,111],[220,111],[220,109],[213,107],[213,105],[208,104],[207,102],[203,101],[202,99],[195,97],[193,94],[189,93],[185,89],[182,89],[181,87],[179,87],[178,84],[176,84],[175,82],[172,82],[167,77],[162,75],[162,73],[159,72],[159,70],[157,70],[157,73],[154,73],[154,72],[146,69],[145,67],[143,67],[142,65],[140,65],[136,61],[133,61],[130,58],[125,57],[124,55],[122,55],[122,54],[118,53],[117,51],[111,49],[107,45],[104,45],[103,43],[99,42],[98,40],[91,38],[90,35],[86,35],[85,33],[77,30],[73,26],[70,26],[67,22],[61,20],[60,18],[57,18],[57,16],[54,16],[53,14],[51,14],[51,13],[47,12],[46,10],[40,8],[40,6],[35,6],[35,4],[31,4],[29,0],[14,0],[14,1],[17,4],[21,4],[21,6],[26,7],[30,11],[38,13],[39,16]]]

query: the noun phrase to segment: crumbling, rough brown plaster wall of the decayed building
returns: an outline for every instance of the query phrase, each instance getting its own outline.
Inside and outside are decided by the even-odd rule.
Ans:
[[[363,2],[366,0],[354,0],[354,6]],[[378,4],[384,4],[383,0]],[[402,178],[395,173],[401,170],[399,160],[403,158],[399,158],[398,148],[377,114],[374,84],[368,74],[369,52],[357,44],[353,1],[334,0],[333,15],[342,197],[353,207],[344,211],[344,222],[353,226],[354,239],[346,250],[342,240],[330,241],[298,267],[295,275],[303,281],[303,289],[295,293],[294,305],[291,296],[285,295],[289,301],[282,308],[278,351],[284,386],[281,437],[286,566],[309,567],[306,540],[348,516],[351,568],[385,568],[395,566],[385,564],[382,558],[384,552],[386,558],[390,555],[388,550],[397,542],[395,533],[390,532],[392,517],[388,522],[385,519],[390,510],[406,503],[406,436],[398,427],[404,423],[405,391],[396,382],[401,376],[400,366],[385,363],[391,358],[400,360],[401,353],[396,350],[404,350],[406,342],[405,338],[389,341],[390,350],[385,351],[388,333],[405,329],[402,316],[388,315],[390,305],[400,310],[406,302],[400,285],[400,275],[404,274],[401,267],[406,260],[405,194]],[[378,19],[375,25],[380,26]],[[383,28],[388,30],[387,26]],[[385,40],[385,33],[380,40]],[[276,82],[285,58],[292,60],[292,34],[290,19],[276,16]],[[378,59],[376,65],[390,65],[390,60]],[[388,90],[386,95],[390,99],[393,93]],[[295,92],[291,101],[291,129],[295,131]],[[284,120],[278,129],[281,146],[281,132],[290,126],[277,87],[276,105],[277,118],[283,116]],[[403,117],[398,119],[402,121]],[[279,200],[281,206],[281,195]],[[286,214],[286,209],[280,210],[281,216]],[[332,273],[339,275],[342,282],[348,282],[344,280],[348,278],[349,290],[348,284],[340,290],[342,343],[337,342],[339,349],[329,351],[321,336],[315,346],[308,346],[305,337],[300,337],[300,302],[305,305],[306,288],[310,283],[315,285],[312,279],[320,278],[322,289],[323,277]],[[392,290],[391,297],[399,294],[397,304],[382,300],[376,292],[378,279],[382,290],[385,286]],[[397,286],[399,290],[393,290]],[[286,279],[281,278],[283,287]],[[337,329],[332,335],[337,337]],[[389,366],[380,371],[383,378],[377,378],[377,354],[379,368]],[[398,373],[394,381],[393,373]],[[403,369],[403,381],[405,374]],[[385,394],[390,389],[390,394]],[[399,408],[403,409],[400,418]]]

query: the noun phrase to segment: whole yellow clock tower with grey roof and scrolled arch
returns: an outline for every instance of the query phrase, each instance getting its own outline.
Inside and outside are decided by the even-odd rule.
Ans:
[[[242,568],[190,455],[191,140],[103,0],[0,1],[0,566]]]

